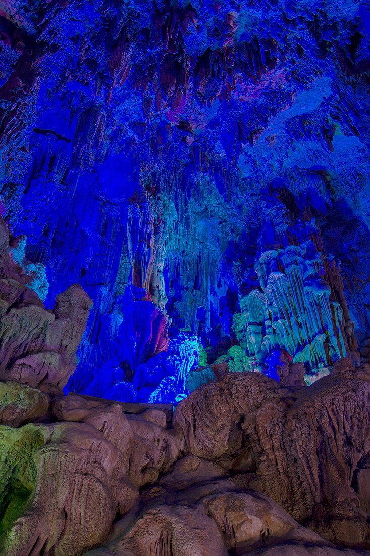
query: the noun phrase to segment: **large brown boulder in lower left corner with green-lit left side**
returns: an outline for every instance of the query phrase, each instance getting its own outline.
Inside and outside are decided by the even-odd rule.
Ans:
[[[0,443],[2,554],[83,554],[134,502],[121,454],[91,425],[0,426]]]

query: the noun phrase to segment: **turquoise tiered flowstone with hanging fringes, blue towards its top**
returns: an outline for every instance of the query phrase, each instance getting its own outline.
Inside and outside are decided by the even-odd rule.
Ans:
[[[294,224],[278,201],[261,210],[254,264],[259,288],[241,297],[242,312],[233,323],[248,355],[246,367],[266,371],[277,350],[311,375],[344,356],[358,364],[340,269],[326,256],[314,220]]]

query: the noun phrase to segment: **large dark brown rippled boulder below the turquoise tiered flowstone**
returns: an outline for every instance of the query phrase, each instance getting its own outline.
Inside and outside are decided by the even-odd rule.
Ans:
[[[178,404],[173,424],[187,454],[246,474],[244,486],[327,539],[370,547],[366,515],[350,493],[353,473],[370,451],[369,378],[367,368],[355,370],[348,359],[299,389],[262,374],[227,374]]]

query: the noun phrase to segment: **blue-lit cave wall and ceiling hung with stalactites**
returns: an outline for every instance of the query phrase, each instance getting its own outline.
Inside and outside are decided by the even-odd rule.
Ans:
[[[0,210],[13,256],[47,307],[72,283],[94,303],[70,388],[105,373],[137,395],[137,367],[183,331],[199,337],[188,371],[244,368],[255,353],[235,323],[263,291],[254,266],[271,248],[271,197],[292,226],[315,219],[318,258],[333,257],[343,288],[326,269],[333,332],[319,319],[306,344],[272,342],[257,366],[276,349],[297,360],[320,334],[339,345],[334,359],[368,360],[365,3],[14,0],[0,16]],[[131,285],[141,297],[128,299]],[[140,353],[123,337],[135,319],[151,322]],[[308,374],[334,363],[328,342],[301,358]]]

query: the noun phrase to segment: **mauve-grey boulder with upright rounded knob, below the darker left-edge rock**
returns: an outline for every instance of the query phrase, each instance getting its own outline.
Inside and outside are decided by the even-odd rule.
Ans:
[[[66,385],[76,369],[91,306],[77,284],[57,296],[54,312],[39,305],[14,306],[0,322],[0,378],[30,386]]]

